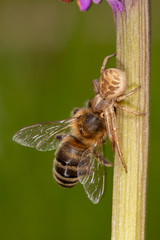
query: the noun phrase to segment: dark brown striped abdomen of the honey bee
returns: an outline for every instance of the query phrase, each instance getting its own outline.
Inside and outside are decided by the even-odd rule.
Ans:
[[[77,167],[86,150],[77,138],[65,137],[56,152],[54,160],[54,178],[56,182],[65,188],[71,188],[78,183]]]

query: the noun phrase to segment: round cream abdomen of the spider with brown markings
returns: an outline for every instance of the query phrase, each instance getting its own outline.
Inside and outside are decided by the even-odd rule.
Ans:
[[[101,74],[99,93],[103,99],[114,99],[124,94],[126,88],[125,72],[116,68],[109,68]]]

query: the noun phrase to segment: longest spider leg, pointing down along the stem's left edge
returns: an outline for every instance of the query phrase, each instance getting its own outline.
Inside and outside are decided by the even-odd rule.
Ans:
[[[116,115],[114,112],[114,108],[110,109],[110,115],[111,115],[111,121],[112,121],[112,128],[113,128],[113,138],[115,141],[115,145],[119,154],[119,157],[121,159],[122,165],[127,173],[127,165],[124,161],[124,157],[123,157],[123,153],[120,147],[120,143],[119,143],[119,138],[118,138],[118,131],[117,131],[117,123],[116,123]]]

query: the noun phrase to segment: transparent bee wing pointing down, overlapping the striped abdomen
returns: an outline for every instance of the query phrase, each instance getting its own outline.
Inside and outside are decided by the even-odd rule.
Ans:
[[[102,153],[96,150],[96,153],[94,149],[86,150],[78,165],[79,181],[94,204],[100,201],[105,186],[105,167],[100,160]]]

